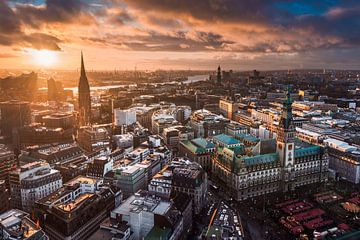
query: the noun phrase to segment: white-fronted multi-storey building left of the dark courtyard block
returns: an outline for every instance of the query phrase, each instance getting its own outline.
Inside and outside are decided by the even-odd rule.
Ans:
[[[12,207],[31,212],[35,201],[62,186],[62,178],[48,163],[32,162],[12,171],[9,183]]]

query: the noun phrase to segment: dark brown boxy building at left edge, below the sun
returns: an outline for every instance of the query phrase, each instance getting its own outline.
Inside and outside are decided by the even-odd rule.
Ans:
[[[0,103],[0,130],[8,143],[17,143],[19,128],[31,123],[29,102],[8,101]]]

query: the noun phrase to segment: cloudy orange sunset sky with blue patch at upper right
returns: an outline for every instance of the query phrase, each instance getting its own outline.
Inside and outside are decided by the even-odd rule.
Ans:
[[[359,0],[0,0],[0,68],[360,69]]]

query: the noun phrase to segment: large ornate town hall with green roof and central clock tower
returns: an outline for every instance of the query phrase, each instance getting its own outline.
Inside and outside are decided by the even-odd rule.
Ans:
[[[276,140],[262,139],[247,148],[218,148],[213,174],[224,187],[228,187],[236,200],[277,191],[287,192],[327,180],[328,155],[322,147],[295,138],[291,105],[288,91]]]

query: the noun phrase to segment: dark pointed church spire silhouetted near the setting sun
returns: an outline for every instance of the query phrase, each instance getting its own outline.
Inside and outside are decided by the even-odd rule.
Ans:
[[[91,99],[90,86],[86,77],[84,58],[81,52],[81,72],[78,86],[79,93],[79,114],[80,126],[86,126],[91,123]]]

